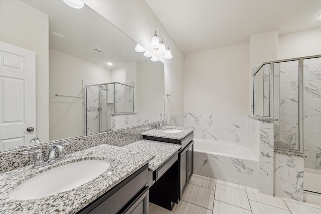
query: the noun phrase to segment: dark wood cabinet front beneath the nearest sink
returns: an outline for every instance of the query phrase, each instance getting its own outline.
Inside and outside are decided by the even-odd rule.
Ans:
[[[148,164],[144,165],[112,189],[77,213],[148,214]]]

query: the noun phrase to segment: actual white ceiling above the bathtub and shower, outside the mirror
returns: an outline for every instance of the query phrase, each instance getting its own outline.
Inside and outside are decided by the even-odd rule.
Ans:
[[[185,54],[248,42],[271,30],[282,35],[321,27],[320,0],[145,1]]]

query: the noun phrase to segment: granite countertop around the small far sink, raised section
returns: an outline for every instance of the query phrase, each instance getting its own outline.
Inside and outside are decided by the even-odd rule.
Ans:
[[[165,133],[162,132],[164,129],[179,129],[182,130],[182,132],[179,133]],[[152,129],[149,131],[142,132],[142,135],[146,136],[152,136],[152,137],[162,137],[162,138],[170,138],[170,139],[177,139],[182,140],[184,137],[186,137],[189,133],[191,133],[195,128],[186,128],[181,126],[163,126],[162,129]]]

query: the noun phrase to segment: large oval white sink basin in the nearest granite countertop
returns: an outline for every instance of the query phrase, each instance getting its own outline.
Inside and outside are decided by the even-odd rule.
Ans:
[[[58,166],[24,181],[9,192],[9,197],[27,200],[68,191],[98,177],[109,165],[105,160],[83,160]]]

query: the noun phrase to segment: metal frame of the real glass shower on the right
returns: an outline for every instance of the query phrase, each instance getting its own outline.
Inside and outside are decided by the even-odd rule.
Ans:
[[[284,59],[284,60],[275,60],[275,61],[269,61],[269,62],[264,62],[262,63],[252,74],[252,80],[253,80],[253,111],[252,114],[254,115],[254,75],[266,64],[270,64],[270,118],[273,118],[273,100],[274,100],[274,63],[282,63],[282,62],[289,62],[289,61],[296,61],[298,60],[299,62],[299,76],[298,76],[298,123],[299,123],[299,150],[289,150],[289,149],[282,149],[282,148],[277,148],[279,150],[285,150],[285,151],[294,151],[294,152],[299,152],[303,154],[303,60],[305,59],[312,59],[312,58],[318,58],[321,57],[321,55],[313,55],[313,56],[307,56],[307,57],[298,57],[298,58],[291,58],[291,59]],[[263,86],[264,87],[264,86]],[[260,116],[260,115],[256,115]]]

